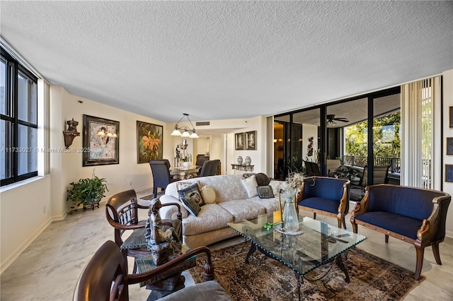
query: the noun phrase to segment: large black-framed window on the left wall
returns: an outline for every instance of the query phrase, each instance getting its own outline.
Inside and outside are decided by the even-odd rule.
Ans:
[[[3,48],[0,57],[1,186],[38,175],[38,78]]]

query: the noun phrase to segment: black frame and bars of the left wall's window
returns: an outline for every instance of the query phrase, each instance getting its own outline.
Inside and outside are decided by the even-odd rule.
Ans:
[[[14,59],[6,49],[0,47],[1,50],[1,57],[6,61],[6,86],[4,90],[5,95],[5,102],[6,102],[6,112],[5,114],[0,113],[0,119],[4,122],[11,123],[11,131],[8,133],[5,132],[6,136],[5,139],[5,148],[1,149],[1,153],[6,153],[6,163],[8,166],[5,166],[5,179],[0,179],[0,186],[3,187],[8,184],[13,184],[16,182],[23,181],[24,179],[30,179],[31,177],[38,176],[38,162],[36,162],[35,170],[30,172],[26,172],[23,175],[18,175],[19,172],[19,152],[21,148],[18,146],[18,137],[19,137],[19,126],[26,126],[27,128],[35,129],[38,134],[38,77],[35,76],[32,72],[30,72],[25,66],[23,66],[20,62]],[[33,122],[23,121],[19,119],[19,110],[18,107],[18,74],[19,71],[23,73],[23,75],[27,76],[30,81],[35,83],[36,87],[36,99],[33,101],[31,105],[35,107],[35,120]],[[30,109],[30,104],[28,104],[27,109]],[[6,129],[5,129],[6,131]],[[38,150],[38,140],[35,145],[28,146],[26,148],[27,152],[35,152]],[[22,150],[23,151],[23,150]]]

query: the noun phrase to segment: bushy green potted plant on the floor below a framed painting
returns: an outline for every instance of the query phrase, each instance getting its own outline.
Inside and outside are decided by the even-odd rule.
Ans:
[[[77,208],[82,205],[84,211],[89,206],[93,210],[94,206],[99,208],[99,202],[105,196],[105,190],[108,191],[105,182],[107,181],[104,178],[99,178],[95,175],[91,179],[79,179],[79,182],[72,182],[72,188],[68,189],[66,201],[74,202],[75,207],[71,208]]]

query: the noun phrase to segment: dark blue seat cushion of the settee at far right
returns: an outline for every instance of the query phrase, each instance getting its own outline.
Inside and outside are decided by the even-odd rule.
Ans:
[[[414,240],[417,239],[417,230],[420,229],[423,223],[422,220],[384,211],[367,212],[361,216],[357,216],[355,219],[406,237],[411,237]]]

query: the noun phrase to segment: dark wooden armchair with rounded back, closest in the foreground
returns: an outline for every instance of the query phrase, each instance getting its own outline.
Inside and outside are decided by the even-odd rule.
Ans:
[[[129,300],[129,285],[149,281],[150,279],[159,279],[162,273],[180,265],[184,261],[190,260],[197,254],[206,254],[205,264],[205,283],[192,285],[183,288],[176,293],[190,296],[192,290],[203,290],[210,295],[212,300],[222,301],[231,300],[223,288],[214,279],[214,266],[211,261],[211,252],[207,247],[198,247],[176,259],[166,262],[161,266],[146,271],[144,273],[127,273],[127,261],[121,254],[120,248],[112,241],[105,242],[82,271],[74,290],[74,301],[98,301],[98,300]],[[162,300],[171,300],[170,294]],[[194,294],[192,294],[194,295]],[[195,300],[188,299],[188,300]]]

